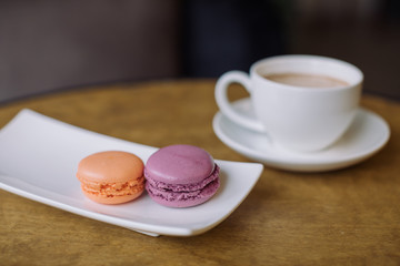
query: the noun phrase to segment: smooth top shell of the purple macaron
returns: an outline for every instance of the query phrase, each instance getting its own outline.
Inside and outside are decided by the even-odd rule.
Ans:
[[[204,150],[192,145],[171,145],[149,157],[146,177],[167,184],[192,184],[210,176],[213,170],[213,158]]]

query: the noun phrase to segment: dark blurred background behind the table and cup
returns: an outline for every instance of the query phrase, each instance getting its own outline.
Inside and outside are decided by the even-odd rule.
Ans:
[[[218,78],[276,54],[359,66],[400,100],[398,0],[0,1],[0,102],[116,81]]]

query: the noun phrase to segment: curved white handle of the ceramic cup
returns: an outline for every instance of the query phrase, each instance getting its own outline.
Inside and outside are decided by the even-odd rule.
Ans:
[[[251,120],[232,108],[228,100],[228,88],[231,83],[241,84],[251,94],[251,80],[247,73],[234,70],[222,74],[216,84],[216,101],[221,112],[227,115],[228,119],[241,126],[258,132],[266,132],[263,125],[259,121]]]

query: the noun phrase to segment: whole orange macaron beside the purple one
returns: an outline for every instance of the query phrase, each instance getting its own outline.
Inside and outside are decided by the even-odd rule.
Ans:
[[[144,191],[143,162],[132,153],[107,151],[82,158],[77,177],[83,194],[101,204],[120,204]]]

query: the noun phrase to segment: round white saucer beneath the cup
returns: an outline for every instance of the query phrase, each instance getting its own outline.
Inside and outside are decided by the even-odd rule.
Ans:
[[[247,116],[254,116],[250,99],[233,106]],[[379,115],[360,109],[346,134],[329,149],[314,153],[282,150],[267,135],[244,129],[218,112],[212,121],[217,136],[236,152],[266,165],[301,172],[338,170],[359,163],[384,146],[390,136],[388,123]]]

